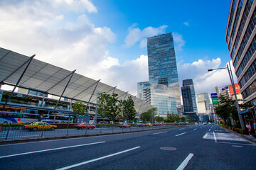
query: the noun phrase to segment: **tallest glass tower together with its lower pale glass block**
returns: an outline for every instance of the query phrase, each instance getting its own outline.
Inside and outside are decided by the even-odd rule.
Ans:
[[[181,94],[171,33],[147,39],[149,81],[138,83],[138,97],[151,103],[158,114],[181,112]]]

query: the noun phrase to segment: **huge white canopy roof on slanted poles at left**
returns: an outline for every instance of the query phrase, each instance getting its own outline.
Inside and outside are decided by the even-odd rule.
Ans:
[[[0,81],[2,84],[15,85],[21,77],[23,70],[26,68],[31,57],[12,52],[0,47]],[[29,64],[23,78],[18,84],[18,87],[42,91],[55,96],[61,96],[65,86],[68,84],[72,71],[56,67],[46,62],[33,59]],[[126,96],[125,91],[115,89],[113,86],[97,82],[100,80],[90,79],[89,77],[80,74],[73,74],[70,83],[65,89],[63,97],[71,98],[78,101],[96,103],[97,93],[105,92],[107,94],[118,94],[119,100]],[[95,89],[95,86],[96,89]],[[114,90],[115,89],[115,90]],[[95,93],[92,95],[93,91]],[[92,95],[92,98],[90,99]],[[127,94],[127,99],[131,94]],[[153,106],[142,101],[136,96],[132,96],[136,111],[143,113]]]

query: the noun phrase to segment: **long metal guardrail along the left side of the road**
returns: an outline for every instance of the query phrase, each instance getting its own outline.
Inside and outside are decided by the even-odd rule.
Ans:
[[[183,124],[186,125],[186,124]],[[31,139],[31,138],[43,138],[43,137],[65,137],[65,136],[84,136],[84,135],[100,135],[100,134],[114,134],[120,132],[139,132],[146,130],[158,130],[162,128],[173,128],[181,125],[157,125],[157,126],[131,126],[131,128],[119,128],[117,126],[112,126],[109,128],[102,127],[95,128],[94,130],[85,128],[84,130],[78,130],[72,125],[68,125],[65,129],[55,129],[55,130],[45,130],[43,126],[43,130],[24,130],[23,127],[12,127],[11,123],[9,123],[8,127],[1,127],[0,132],[0,142],[6,140],[21,140],[21,139]]]

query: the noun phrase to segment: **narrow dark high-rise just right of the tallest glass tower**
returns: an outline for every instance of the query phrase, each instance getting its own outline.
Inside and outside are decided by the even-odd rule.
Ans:
[[[181,94],[184,113],[196,113],[196,93],[192,79],[185,79],[182,81]]]

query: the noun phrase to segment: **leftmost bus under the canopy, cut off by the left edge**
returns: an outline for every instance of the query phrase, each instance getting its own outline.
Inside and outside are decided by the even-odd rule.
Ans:
[[[33,123],[38,121],[41,121],[39,114],[0,112],[0,123]]]

